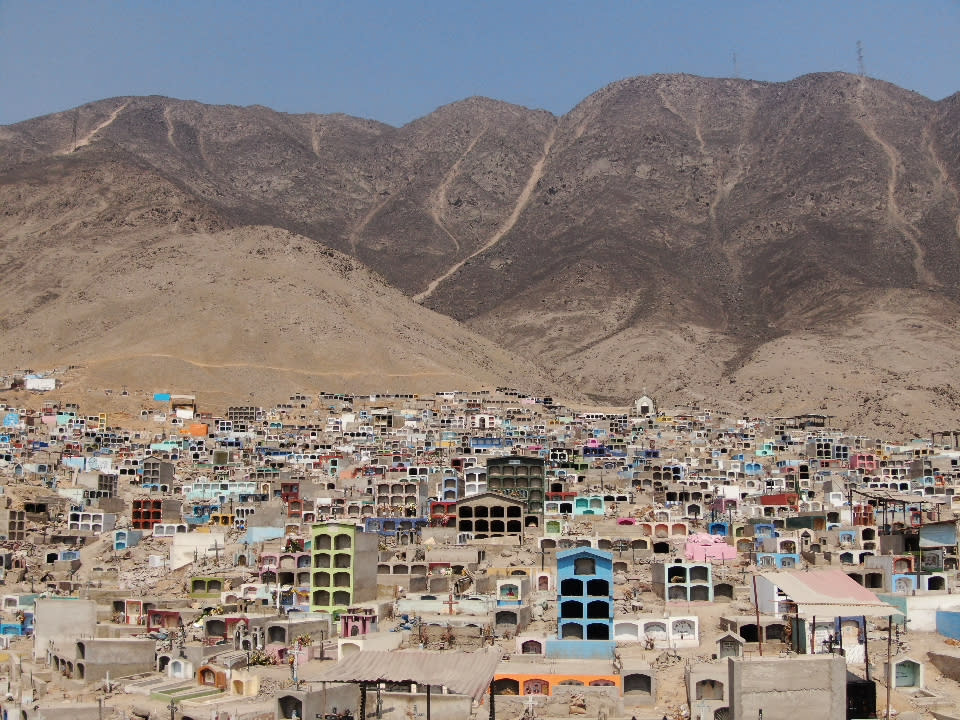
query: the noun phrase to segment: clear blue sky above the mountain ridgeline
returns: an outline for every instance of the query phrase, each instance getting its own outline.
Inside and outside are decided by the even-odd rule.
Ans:
[[[960,91],[960,0],[0,0],[0,124],[169,95],[401,125],[486,95],[562,114],[633,75],[866,72]]]

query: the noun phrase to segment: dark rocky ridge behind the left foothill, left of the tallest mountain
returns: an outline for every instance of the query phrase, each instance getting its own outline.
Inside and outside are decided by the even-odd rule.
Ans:
[[[553,123],[484,99],[396,129],[114,98],[0,129],[0,168],[96,148],[148,167],[231,224],[302,233],[413,292],[509,216]]]

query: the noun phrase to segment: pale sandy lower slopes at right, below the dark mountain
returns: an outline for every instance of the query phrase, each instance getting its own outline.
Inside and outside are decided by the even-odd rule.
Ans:
[[[960,427],[958,317],[951,303],[890,291],[829,331],[794,331],[745,357],[725,333],[688,323],[637,325],[588,347],[570,312],[520,315],[509,333],[496,320],[477,329],[521,352],[545,346],[541,362],[604,406],[645,389],[667,408],[823,413],[842,429],[910,438]]]

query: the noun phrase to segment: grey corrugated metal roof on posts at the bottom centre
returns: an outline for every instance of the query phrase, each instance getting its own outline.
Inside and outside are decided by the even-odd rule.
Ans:
[[[414,682],[443,685],[480,701],[500,662],[499,650],[427,652],[361,650],[341,660],[317,680],[322,682]]]

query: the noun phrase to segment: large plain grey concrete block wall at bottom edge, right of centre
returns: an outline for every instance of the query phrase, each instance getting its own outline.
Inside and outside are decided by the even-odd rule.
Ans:
[[[776,660],[728,659],[731,720],[846,720],[847,668],[838,655]]]

